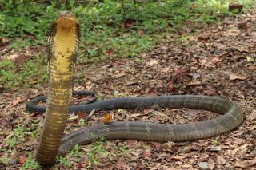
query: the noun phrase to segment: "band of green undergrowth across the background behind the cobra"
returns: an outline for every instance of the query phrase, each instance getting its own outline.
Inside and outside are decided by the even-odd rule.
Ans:
[[[66,10],[66,4],[59,4],[58,1],[20,0],[15,8],[12,2],[0,2],[3,4],[0,6],[0,34],[4,38],[14,38],[10,49],[24,50],[26,46],[46,45],[47,33],[58,10]],[[74,0],[69,2],[70,10],[76,14],[81,25],[82,43],[78,64],[115,57],[137,57],[163,38],[168,38],[168,34],[182,30],[184,25],[194,26],[194,30],[197,30],[197,26],[218,24],[223,16],[233,14],[227,10],[228,0],[168,0],[135,4],[125,0],[126,15],[120,1],[91,2],[87,6]],[[254,0],[237,2],[244,4],[246,10]],[[183,36],[179,40],[186,43],[187,38]],[[29,59],[18,70],[15,65],[4,61],[6,68],[0,68],[0,85],[6,88],[39,86],[47,77],[46,60],[43,58],[46,56]]]

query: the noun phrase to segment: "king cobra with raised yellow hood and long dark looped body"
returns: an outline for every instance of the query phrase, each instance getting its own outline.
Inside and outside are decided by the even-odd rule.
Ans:
[[[230,132],[242,123],[242,110],[234,101],[218,97],[172,95],[158,97],[119,97],[70,106],[74,84],[74,63],[78,56],[80,31],[74,14],[62,11],[55,20],[49,38],[49,91],[46,103],[46,120],[42,130],[36,160],[50,166],[56,156],[64,156],[75,144],[89,144],[99,138],[106,140],[186,141],[199,140]],[[78,95],[86,92],[74,92]],[[89,93],[94,95],[94,93]],[[46,97],[36,97],[26,103],[26,110],[44,112],[36,106]],[[157,106],[157,107],[156,107]],[[90,113],[110,109],[138,108],[190,108],[204,109],[222,114],[212,120],[190,124],[170,125],[147,121],[110,121],[107,124],[86,126],[63,136],[69,113]]]

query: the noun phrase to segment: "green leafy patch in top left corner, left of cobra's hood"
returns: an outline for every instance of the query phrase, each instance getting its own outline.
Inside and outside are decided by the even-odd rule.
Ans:
[[[56,14],[54,4],[45,4],[34,1],[19,2],[15,8],[11,3],[5,3],[0,14],[0,33],[6,38],[21,38],[19,43],[14,41],[11,48],[22,48],[25,45],[38,45],[51,25]],[[33,6],[33,7],[31,7]]]

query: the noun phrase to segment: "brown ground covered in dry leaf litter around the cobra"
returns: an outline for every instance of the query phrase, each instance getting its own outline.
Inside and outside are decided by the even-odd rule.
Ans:
[[[98,93],[101,99],[172,94],[226,97],[242,107],[242,125],[220,136],[189,142],[101,140],[80,147],[79,152],[70,154],[66,160],[62,159],[55,168],[254,169],[255,11],[256,8],[239,17],[223,18],[218,26],[202,26],[199,35],[190,34],[193,26],[184,26],[186,33],[190,34],[186,40],[177,42],[175,39],[180,35],[170,34],[150,53],[142,53],[138,57],[78,65],[77,80],[83,79],[85,83],[77,82],[74,85],[74,89]],[[24,109],[30,98],[46,94],[44,86],[44,90],[14,88],[0,94],[0,156],[2,162],[6,158],[6,163],[1,163],[0,168],[24,168],[24,164],[29,164],[29,153],[35,152],[43,117],[38,113],[25,113]],[[113,121],[147,120],[175,124],[216,117],[214,113],[201,114],[204,113],[201,110],[190,109],[117,110],[96,113],[86,120],[86,125],[101,122],[105,113],[110,113]],[[79,127],[77,121],[71,121],[67,124],[66,132]],[[4,152],[3,148],[9,152]]]

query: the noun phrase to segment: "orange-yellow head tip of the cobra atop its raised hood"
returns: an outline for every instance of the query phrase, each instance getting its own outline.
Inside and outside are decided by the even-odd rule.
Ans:
[[[77,24],[77,18],[69,11],[61,11],[55,23],[62,28],[70,28]]]

